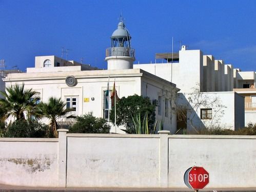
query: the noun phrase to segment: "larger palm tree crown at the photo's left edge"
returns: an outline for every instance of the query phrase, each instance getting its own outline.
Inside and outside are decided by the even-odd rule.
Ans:
[[[16,120],[25,119],[24,112],[32,113],[36,106],[36,101],[40,100],[34,97],[37,94],[32,89],[25,90],[24,83],[20,86],[15,84],[6,88],[6,91],[0,91],[5,98],[0,98],[0,106],[4,112],[2,119],[14,116]],[[33,98],[34,97],[34,98]]]

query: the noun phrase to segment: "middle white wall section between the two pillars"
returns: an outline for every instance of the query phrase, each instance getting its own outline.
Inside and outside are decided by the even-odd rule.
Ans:
[[[133,136],[68,134],[67,187],[159,186],[159,137]]]

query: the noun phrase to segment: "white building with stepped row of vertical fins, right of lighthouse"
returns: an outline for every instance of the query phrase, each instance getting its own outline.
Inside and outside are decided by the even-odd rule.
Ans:
[[[176,109],[178,128],[236,130],[244,127],[244,97],[233,92],[232,65],[214,60],[212,55],[203,55],[200,50],[187,50],[186,46],[182,46],[173,58],[171,53],[156,56],[173,62],[133,65],[133,68],[171,81],[181,89]],[[180,114],[183,117],[179,117]]]

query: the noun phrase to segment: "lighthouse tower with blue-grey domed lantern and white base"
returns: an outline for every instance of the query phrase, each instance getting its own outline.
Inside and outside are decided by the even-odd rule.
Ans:
[[[132,69],[135,60],[134,49],[131,48],[131,36],[123,20],[119,22],[110,38],[111,48],[106,50],[105,58],[108,70]]]

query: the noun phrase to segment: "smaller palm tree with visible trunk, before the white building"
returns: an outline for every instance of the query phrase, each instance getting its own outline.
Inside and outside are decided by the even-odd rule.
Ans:
[[[61,98],[50,97],[48,102],[41,102],[37,106],[37,115],[50,119],[50,126],[55,137],[57,134],[57,119],[66,115],[70,110],[65,109],[66,103]]]

